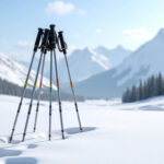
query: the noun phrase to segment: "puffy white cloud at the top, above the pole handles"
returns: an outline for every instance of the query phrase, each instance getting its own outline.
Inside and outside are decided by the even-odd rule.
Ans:
[[[47,4],[46,13],[47,14],[58,14],[63,15],[70,13],[74,9],[72,3],[66,3],[63,1],[55,1]]]

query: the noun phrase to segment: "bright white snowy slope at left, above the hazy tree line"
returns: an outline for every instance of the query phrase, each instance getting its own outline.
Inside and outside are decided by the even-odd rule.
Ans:
[[[24,85],[27,74],[27,68],[14,61],[7,55],[0,52],[0,78],[20,86]],[[35,71],[32,70],[28,84],[33,85],[35,80]],[[38,77],[39,80],[39,77]],[[44,86],[49,86],[49,81],[44,78]],[[55,86],[56,87],[56,86]]]

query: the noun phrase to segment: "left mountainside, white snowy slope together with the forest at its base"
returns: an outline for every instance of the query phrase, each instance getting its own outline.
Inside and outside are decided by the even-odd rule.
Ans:
[[[35,61],[36,62],[36,61]],[[34,65],[35,65],[34,62]],[[9,95],[22,95],[22,86],[24,85],[25,79],[27,74],[27,69],[11,59],[10,57],[5,56],[4,54],[0,52],[0,94],[9,94]],[[34,81],[35,81],[36,72],[32,70],[31,77],[28,80],[28,87],[32,89]],[[38,77],[38,81],[40,75]],[[43,79],[43,99],[49,99],[49,80],[44,78]],[[37,83],[39,84],[39,82]],[[54,85],[55,92],[52,92],[52,98],[58,99],[56,85]],[[68,94],[60,91],[61,98],[65,101],[72,101],[73,97],[71,94]],[[26,91],[26,97],[31,97],[31,90]],[[36,91],[35,98],[37,98],[38,91]],[[82,96],[77,96],[78,101],[83,101]]]

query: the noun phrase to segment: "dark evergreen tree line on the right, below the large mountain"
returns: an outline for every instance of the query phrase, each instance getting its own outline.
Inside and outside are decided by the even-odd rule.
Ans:
[[[130,103],[159,95],[164,95],[164,79],[161,73],[150,77],[144,82],[140,80],[140,84],[127,89],[121,99],[122,103]]]

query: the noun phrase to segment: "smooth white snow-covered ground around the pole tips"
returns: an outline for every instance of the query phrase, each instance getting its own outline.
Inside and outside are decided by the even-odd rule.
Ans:
[[[80,133],[72,103],[63,102],[66,140],[60,136],[57,103],[52,104],[52,140],[48,141],[48,103],[42,102],[36,133],[34,112],[25,142],[20,142],[28,99],[24,101],[12,144],[8,143],[19,103],[0,96],[0,164],[163,164],[164,97],[141,103],[114,101],[79,103]],[[35,102],[36,103],[36,102]]]

